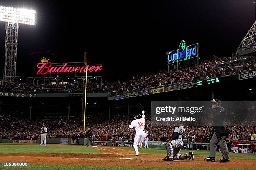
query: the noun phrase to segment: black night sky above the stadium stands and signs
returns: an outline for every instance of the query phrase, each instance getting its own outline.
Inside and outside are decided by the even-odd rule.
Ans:
[[[37,25],[20,25],[17,75],[35,76],[33,51],[54,53],[54,62],[103,61],[104,78],[126,80],[167,69],[166,52],[199,43],[200,60],[226,57],[255,21],[254,0],[64,1],[2,0],[0,5],[37,12]],[[5,27],[0,23],[0,74]],[[32,74],[32,75],[31,75]]]

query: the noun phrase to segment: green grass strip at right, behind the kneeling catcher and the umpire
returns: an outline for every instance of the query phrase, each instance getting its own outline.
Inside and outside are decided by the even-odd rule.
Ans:
[[[122,149],[134,151],[133,147],[122,147]],[[190,151],[193,151],[195,156],[199,156],[199,157],[209,156],[209,151],[207,151],[207,150],[181,150],[180,153],[188,153]],[[166,149],[158,149],[158,148],[141,148],[141,149],[139,149],[139,152],[154,154],[154,155],[166,155]],[[216,157],[222,158],[221,153],[217,152]],[[230,157],[230,159],[233,158],[233,159],[256,160],[256,155],[253,155],[253,154],[229,153],[229,157]]]

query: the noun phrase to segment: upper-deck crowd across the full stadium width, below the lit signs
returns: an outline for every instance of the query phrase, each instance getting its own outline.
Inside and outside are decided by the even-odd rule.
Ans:
[[[152,87],[164,85],[182,84],[193,80],[203,80],[212,77],[222,77],[241,72],[255,70],[253,62],[245,64],[221,65],[231,58],[215,58],[200,63],[198,66],[179,70],[160,71],[152,75],[133,76],[125,82],[109,83],[103,80],[90,81],[87,84],[87,92],[108,92],[108,95],[118,95],[126,92],[147,90]],[[80,79],[81,80],[81,79]],[[0,82],[0,90],[12,90],[22,92],[82,92],[81,81],[69,81],[67,83],[3,83]]]

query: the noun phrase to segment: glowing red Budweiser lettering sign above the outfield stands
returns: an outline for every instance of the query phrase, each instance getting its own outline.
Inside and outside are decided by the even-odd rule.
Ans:
[[[37,64],[37,75],[46,75],[48,73],[78,73],[78,72],[100,72],[102,70],[102,65],[87,65],[84,66],[67,66],[67,63],[64,63],[61,67],[52,66],[51,62],[47,63],[38,63]]]

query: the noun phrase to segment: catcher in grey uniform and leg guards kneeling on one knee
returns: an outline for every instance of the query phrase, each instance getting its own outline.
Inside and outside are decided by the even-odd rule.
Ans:
[[[172,133],[172,139],[171,141],[167,142],[166,150],[167,150],[167,156],[163,158],[162,160],[194,160],[194,154],[193,152],[189,152],[186,154],[180,154],[179,151],[181,150],[183,146],[182,141],[182,134],[184,133],[185,128],[181,123],[178,123],[174,125],[173,133]]]

